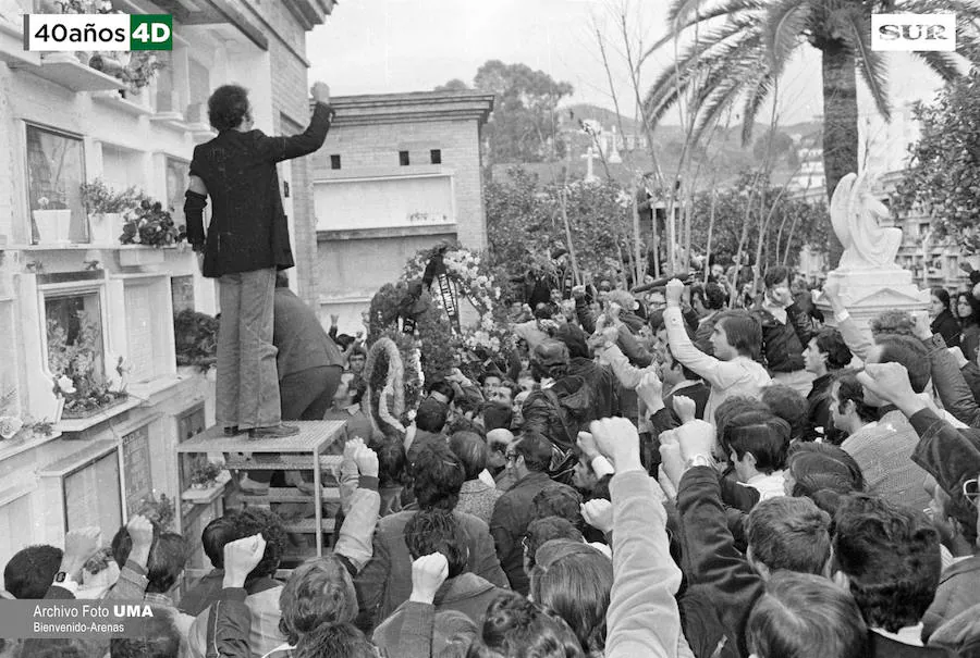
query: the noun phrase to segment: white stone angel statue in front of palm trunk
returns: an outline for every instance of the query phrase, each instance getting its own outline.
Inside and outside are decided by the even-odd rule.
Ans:
[[[887,207],[871,194],[865,174],[847,174],[831,199],[831,224],[844,246],[838,270],[897,268],[902,229],[882,226]]]

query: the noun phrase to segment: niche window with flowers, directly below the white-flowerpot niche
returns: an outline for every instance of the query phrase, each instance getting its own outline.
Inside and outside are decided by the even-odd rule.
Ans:
[[[97,290],[45,296],[48,370],[68,375],[81,396],[106,383],[101,299]]]

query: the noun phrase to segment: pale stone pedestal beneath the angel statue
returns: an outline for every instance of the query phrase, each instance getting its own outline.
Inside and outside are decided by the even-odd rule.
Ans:
[[[841,301],[862,330],[868,330],[871,319],[882,311],[907,311],[912,316],[929,312],[930,290],[920,290],[912,283],[911,272],[898,265],[834,270],[826,281],[840,282]],[[822,296],[817,308],[823,311],[829,326],[836,326],[834,312]]]

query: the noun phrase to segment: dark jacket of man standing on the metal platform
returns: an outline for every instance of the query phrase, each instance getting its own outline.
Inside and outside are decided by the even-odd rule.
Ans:
[[[222,131],[194,148],[191,175],[211,199],[211,221],[187,223],[187,241],[205,244],[204,275],[218,277],[267,268],[292,268],[290,229],[279,196],[275,164],[313,153],[323,145],[333,111],[317,103],[306,132],[269,137],[261,131]]]

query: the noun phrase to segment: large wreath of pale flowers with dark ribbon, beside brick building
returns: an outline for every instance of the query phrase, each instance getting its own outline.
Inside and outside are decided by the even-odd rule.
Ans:
[[[466,298],[479,314],[475,326],[462,327],[460,345],[478,358],[501,359],[514,347],[510,331],[506,306],[501,302],[501,288],[494,273],[477,253],[458,243],[441,243],[415,254],[405,266],[408,281],[421,278],[429,260],[443,251],[446,274],[456,288],[457,299]],[[437,307],[442,308],[442,299],[433,295]]]

